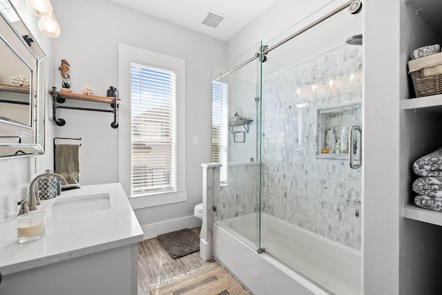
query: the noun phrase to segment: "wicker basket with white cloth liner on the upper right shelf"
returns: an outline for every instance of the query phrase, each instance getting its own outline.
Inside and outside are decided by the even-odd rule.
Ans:
[[[425,69],[442,65],[442,53],[408,61],[408,69],[416,97],[442,93],[442,73],[425,77]]]

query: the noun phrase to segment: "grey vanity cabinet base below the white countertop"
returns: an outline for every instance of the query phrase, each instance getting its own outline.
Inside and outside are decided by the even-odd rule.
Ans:
[[[3,276],[0,294],[136,295],[137,244]]]

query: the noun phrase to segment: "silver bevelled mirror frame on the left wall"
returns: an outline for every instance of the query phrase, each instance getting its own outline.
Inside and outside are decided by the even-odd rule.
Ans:
[[[15,32],[14,38],[8,39],[3,30],[0,31],[0,41],[4,41],[16,55],[20,56],[17,52],[18,49],[29,51],[30,55],[34,58],[35,70],[32,73],[32,79],[30,84],[30,135],[32,139],[30,142],[21,142],[21,136],[23,135],[23,127],[15,126],[10,122],[1,120],[0,122],[0,159],[10,157],[23,157],[29,155],[41,155],[44,154],[45,149],[45,117],[46,117],[46,55],[41,50],[39,44],[32,36],[29,29],[24,24],[23,20],[19,16],[17,10],[9,0],[3,0],[10,6],[10,12],[17,15],[17,21],[10,21],[8,15],[3,10],[0,10],[0,15],[4,21],[8,23],[13,32]],[[5,28],[9,30],[9,28]],[[6,32],[6,31],[5,31]],[[26,39],[25,39],[26,37]],[[29,38],[32,40],[30,45]],[[11,45],[15,44],[15,45]],[[26,53],[28,54],[28,52]],[[7,134],[3,134],[5,130],[9,130]],[[12,131],[11,131],[12,130]],[[10,138],[8,142],[7,138]],[[19,140],[17,140],[19,138]],[[18,142],[17,142],[18,141]]]

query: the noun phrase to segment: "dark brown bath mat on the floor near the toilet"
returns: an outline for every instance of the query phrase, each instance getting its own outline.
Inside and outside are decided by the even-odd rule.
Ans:
[[[200,251],[200,237],[191,229],[182,229],[160,235],[158,240],[173,259]]]

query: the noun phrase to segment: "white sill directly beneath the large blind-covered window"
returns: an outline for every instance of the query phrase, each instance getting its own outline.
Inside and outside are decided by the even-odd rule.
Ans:
[[[142,209],[177,202],[186,202],[187,191],[168,191],[148,196],[131,197],[128,198],[128,200],[131,203],[132,209]]]

